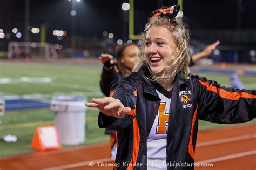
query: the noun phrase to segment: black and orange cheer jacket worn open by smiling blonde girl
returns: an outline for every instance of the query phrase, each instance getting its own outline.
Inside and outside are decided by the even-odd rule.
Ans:
[[[160,99],[145,74],[147,71],[140,69],[112,88],[111,96],[119,99],[125,107],[131,107],[130,114],[118,119],[99,113],[99,127],[117,130],[115,169],[147,169],[147,137]],[[184,94],[187,95],[185,99]],[[194,163],[198,119],[221,124],[241,123],[252,120],[255,114],[255,91],[223,87],[215,81],[192,75],[185,80],[182,72],[177,74],[169,113],[167,163]],[[167,169],[174,167],[168,166]],[[194,169],[194,166],[177,169]]]

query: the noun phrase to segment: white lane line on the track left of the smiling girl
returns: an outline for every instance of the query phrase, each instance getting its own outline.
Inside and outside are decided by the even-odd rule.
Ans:
[[[69,165],[63,165],[63,166],[56,166],[56,167],[52,167],[52,168],[45,168],[42,170],[57,170],[57,169],[68,169],[68,168],[75,168],[75,167],[80,167],[80,166],[87,166],[87,165],[97,165],[97,162],[108,162],[111,161],[110,158],[105,158],[105,159],[96,159],[96,160],[92,160],[92,161],[85,161],[85,162],[79,162],[76,164],[69,164]],[[94,166],[93,165],[93,166]]]

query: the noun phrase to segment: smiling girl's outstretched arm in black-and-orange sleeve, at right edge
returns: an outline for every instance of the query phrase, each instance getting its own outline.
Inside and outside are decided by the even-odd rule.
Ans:
[[[256,117],[256,91],[224,87],[197,77],[198,117],[215,123],[242,123]]]

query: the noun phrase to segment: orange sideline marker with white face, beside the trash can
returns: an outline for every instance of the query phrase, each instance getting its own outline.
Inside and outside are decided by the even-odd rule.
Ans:
[[[31,147],[41,152],[61,149],[57,127],[55,125],[37,127]]]

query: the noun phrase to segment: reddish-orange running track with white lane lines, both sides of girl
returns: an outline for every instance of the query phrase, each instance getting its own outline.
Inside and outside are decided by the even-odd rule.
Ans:
[[[0,158],[0,170],[112,169],[109,144]],[[195,169],[256,169],[256,124],[199,131]],[[101,163],[102,162],[102,163]],[[110,165],[109,165],[109,164]],[[93,165],[93,166],[90,166]]]

